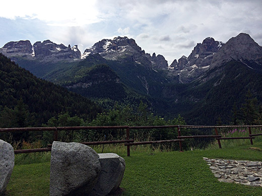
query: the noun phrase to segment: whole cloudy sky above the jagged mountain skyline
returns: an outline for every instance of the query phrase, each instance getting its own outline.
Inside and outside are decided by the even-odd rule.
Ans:
[[[261,0],[5,1],[0,47],[9,41],[49,39],[78,45],[83,53],[101,39],[127,36],[171,64],[206,37],[227,42],[244,32],[262,45],[261,11]]]

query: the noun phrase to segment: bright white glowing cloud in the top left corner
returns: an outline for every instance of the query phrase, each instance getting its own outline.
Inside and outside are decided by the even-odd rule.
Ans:
[[[79,26],[101,21],[95,3],[94,0],[4,1],[1,3],[0,17],[13,20],[17,17],[39,19],[53,26]]]

